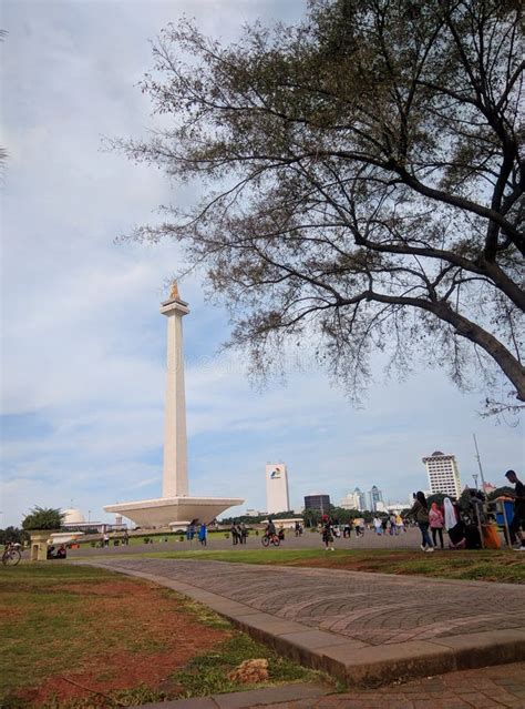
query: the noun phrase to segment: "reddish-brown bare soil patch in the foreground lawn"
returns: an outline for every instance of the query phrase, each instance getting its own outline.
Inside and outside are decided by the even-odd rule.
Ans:
[[[82,638],[73,645],[68,641],[64,651],[71,656],[71,667],[55,672],[50,667],[49,676],[38,686],[18,692],[20,699],[34,708],[53,697],[59,701],[94,699],[94,692],[106,695],[140,685],[154,689],[171,687],[167,678],[172,672],[229,635],[227,630],[197,622],[181,609],[175,597],[167,597],[163,589],[150,584],[68,584],[60,590],[82,596],[91,637],[95,626],[100,628],[101,641],[89,648]],[[155,649],[135,649],[136,640],[146,647],[151,641]],[[177,695],[176,686],[171,695]]]

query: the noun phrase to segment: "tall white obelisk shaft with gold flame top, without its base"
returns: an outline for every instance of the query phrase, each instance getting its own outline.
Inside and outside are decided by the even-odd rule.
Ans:
[[[163,497],[188,494],[186,395],[184,392],[183,317],[188,304],[181,300],[175,283],[169,300],[161,306],[167,317],[166,414],[164,421]]]

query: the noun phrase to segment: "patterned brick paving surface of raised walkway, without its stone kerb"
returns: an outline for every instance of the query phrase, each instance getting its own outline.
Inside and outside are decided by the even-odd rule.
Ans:
[[[223,561],[105,564],[183,581],[282,620],[372,646],[525,628],[525,586],[518,585]]]

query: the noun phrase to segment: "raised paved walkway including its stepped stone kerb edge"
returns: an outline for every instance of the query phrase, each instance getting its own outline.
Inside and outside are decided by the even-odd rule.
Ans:
[[[222,561],[97,561],[366,686],[525,659],[525,586]]]

